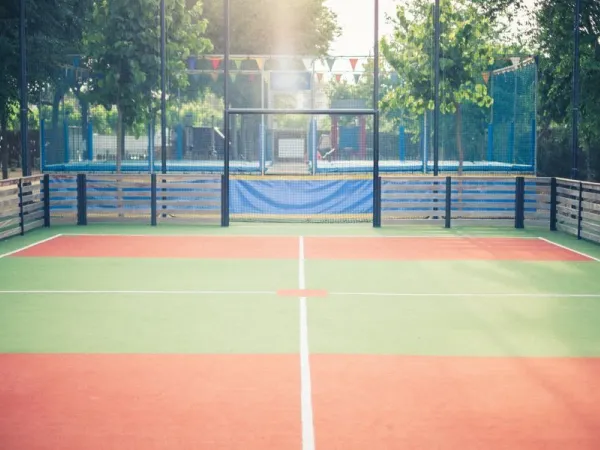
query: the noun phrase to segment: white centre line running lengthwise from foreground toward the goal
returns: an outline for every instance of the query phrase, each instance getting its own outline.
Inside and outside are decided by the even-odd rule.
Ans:
[[[299,238],[298,287],[306,289],[304,270],[304,238]],[[313,423],[312,388],[310,380],[310,357],[308,348],[308,310],[306,297],[300,298],[300,403],[302,420],[302,450],[314,450],[315,431]]]

